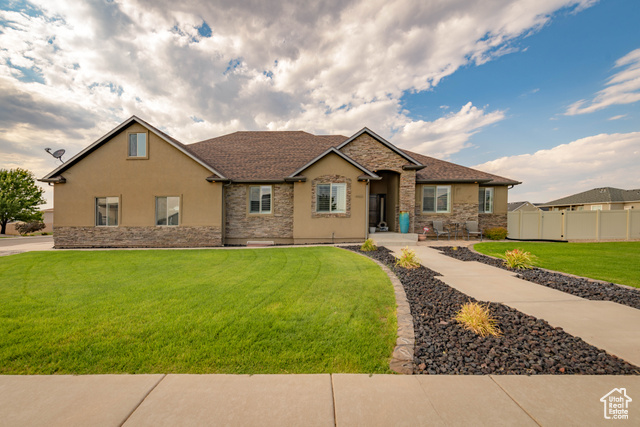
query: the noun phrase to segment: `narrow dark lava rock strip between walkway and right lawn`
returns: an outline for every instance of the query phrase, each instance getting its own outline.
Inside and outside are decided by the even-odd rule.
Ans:
[[[612,301],[640,310],[640,290],[614,285],[613,283],[595,282],[581,277],[572,277],[562,273],[553,273],[539,268],[514,270],[505,266],[504,262],[500,259],[482,255],[464,247],[458,247],[456,250],[453,250],[452,246],[443,246],[435,249],[461,261],[478,261],[483,264],[502,268],[503,270],[513,271],[517,273],[517,277],[520,279],[528,280],[538,285],[547,286],[584,299]]]

